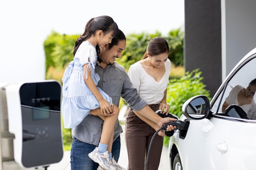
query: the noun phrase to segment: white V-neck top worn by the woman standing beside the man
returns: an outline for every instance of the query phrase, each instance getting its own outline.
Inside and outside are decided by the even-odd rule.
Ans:
[[[169,83],[171,61],[167,59],[164,66],[165,73],[159,82],[146,73],[140,62],[132,64],[129,68],[128,75],[133,86],[137,88],[139,96],[148,104],[159,104],[164,97],[164,91]]]

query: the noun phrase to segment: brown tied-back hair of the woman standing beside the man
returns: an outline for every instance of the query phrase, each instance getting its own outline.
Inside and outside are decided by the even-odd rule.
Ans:
[[[170,53],[168,42],[162,37],[152,38],[150,42],[148,42],[147,52],[151,56]],[[144,53],[143,59],[148,57],[147,52]]]

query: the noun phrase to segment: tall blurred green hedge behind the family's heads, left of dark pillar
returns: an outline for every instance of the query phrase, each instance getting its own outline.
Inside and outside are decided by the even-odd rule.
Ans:
[[[116,61],[128,70],[131,64],[142,59],[148,42],[157,36],[162,35],[158,31],[153,34],[142,32],[126,35],[126,50]],[[61,35],[54,31],[47,37],[44,42],[46,73],[50,66],[65,68],[73,60],[74,43],[78,37],[79,35]],[[164,38],[170,48],[168,58],[175,66],[183,66],[183,32],[180,29],[171,30]]]

